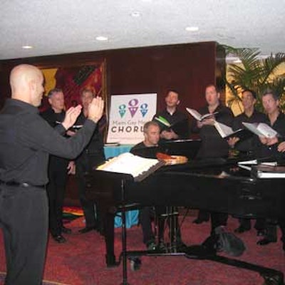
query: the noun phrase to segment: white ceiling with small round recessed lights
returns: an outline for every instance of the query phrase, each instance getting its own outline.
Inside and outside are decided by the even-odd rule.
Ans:
[[[0,60],[199,41],[268,55],[285,52],[284,12],[285,0],[1,0]]]

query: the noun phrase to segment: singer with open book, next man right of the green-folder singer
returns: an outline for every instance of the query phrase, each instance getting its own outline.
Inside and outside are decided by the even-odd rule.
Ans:
[[[213,84],[207,86],[205,88],[207,105],[199,109],[199,113],[204,115],[207,113],[217,112],[217,114],[202,121],[195,119],[192,121],[192,132],[199,133],[202,140],[202,145],[197,154],[197,159],[207,160],[212,158],[228,157],[229,155],[229,145],[227,144],[227,140],[224,140],[224,138],[219,135],[217,129],[214,127],[214,121],[217,120],[219,123],[232,127],[234,115],[232,114],[232,110],[222,105],[219,97],[220,93],[216,86]],[[211,219],[212,233],[216,227],[227,224],[227,214],[211,213]],[[198,217],[193,222],[195,224],[200,224],[202,222],[207,222],[208,220],[209,212],[199,210]]]

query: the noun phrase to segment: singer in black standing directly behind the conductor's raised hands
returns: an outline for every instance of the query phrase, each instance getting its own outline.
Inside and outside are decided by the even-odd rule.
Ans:
[[[83,125],[88,118],[88,108],[89,104],[93,100],[93,91],[84,88],[81,90],[81,103],[83,105],[83,110],[76,120],[76,125]],[[93,229],[102,231],[102,224],[100,221],[100,211],[98,210],[98,205],[94,204],[92,201],[86,197],[86,173],[90,172],[93,167],[105,162],[104,154],[104,143],[103,143],[103,129],[105,128],[106,121],[105,117],[101,118],[98,122],[97,127],[88,142],[88,145],[84,148],[81,155],[76,158],[76,180],[78,182],[79,199],[81,202],[81,207],[83,208],[85,217],[85,227],[79,229],[81,234],[90,232]]]

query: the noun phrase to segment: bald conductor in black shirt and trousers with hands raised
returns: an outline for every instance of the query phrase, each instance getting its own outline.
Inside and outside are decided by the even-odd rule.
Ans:
[[[0,113],[0,224],[6,251],[6,285],[40,285],[48,233],[48,154],[75,158],[103,113],[103,100],[90,104],[88,120],[73,138],[63,133],[81,106],[66,112],[56,129],[38,115],[43,74],[21,64],[11,71],[11,99]]]

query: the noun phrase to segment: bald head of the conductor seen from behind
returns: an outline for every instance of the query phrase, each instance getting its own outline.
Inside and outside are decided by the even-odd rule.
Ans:
[[[21,64],[10,73],[11,97],[35,107],[41,105],[43,95],[43,73],[28,64]]]

